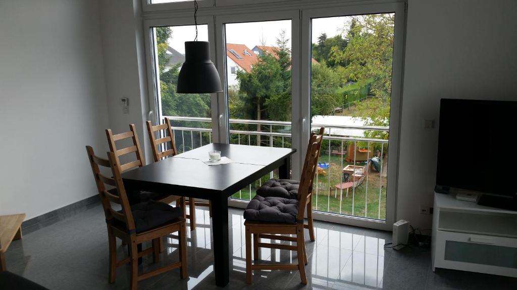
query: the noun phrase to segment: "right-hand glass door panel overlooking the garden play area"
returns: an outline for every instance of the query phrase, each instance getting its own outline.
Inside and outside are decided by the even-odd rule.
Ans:
[[[338,215],[382,229],[393,222],[396,171],[388,156],[397,154],[396,132],[390,128],[398,122],[400,62],[394,60],[400,57],[401,8],[303,13],[307,130],[325,127],[313,195],[323,219]]]

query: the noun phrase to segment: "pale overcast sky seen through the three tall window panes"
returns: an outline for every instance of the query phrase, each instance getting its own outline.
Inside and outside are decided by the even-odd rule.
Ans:
[[[349,17],[318,18],[312,20],[312,43],[317,42],[317,37],[326,33],[327,37],[333,37],[341,33],[341,29],[348,27]],[[229,23],[225,24],[227,43],[245,44],[249,49],[255,45],[261,45],[262,40],[266,46],[277,46],[277,38],[282,30],[289,39],[291,46],[291,20]],[[185,41],[192,41],[195,37],[193,25],[172,27],[172,37],[169,45],[178,52],[185,54]],[[208,26],[197,25],[197,40],[208,41]]]

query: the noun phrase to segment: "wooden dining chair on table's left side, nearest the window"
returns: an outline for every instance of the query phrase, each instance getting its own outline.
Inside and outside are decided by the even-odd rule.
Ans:
[[[164,118],[164,123],[153,126],[147,121],[147,133],[151,142],[151,149],[155,162],[159,162],[163,158],[168,158],[178,154],[176,143],[174,142],[174,133],[172,132],[171,121]],[[208,206],[210,217],[212,216],[212,205],[208,202],[196,201],[193,198],[185,200],[185,206],[189,206],[189,214],[186,217],[190,220],[190,230],[195,230],[195,206]]]

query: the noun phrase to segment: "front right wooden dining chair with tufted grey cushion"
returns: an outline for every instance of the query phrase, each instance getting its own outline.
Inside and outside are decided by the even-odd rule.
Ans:
[[[305,228],[303,215],[312,195],[312,182],[317,170],[317,160],[323,140],[323,132],[320,133],[320,135],[311,134],[303,163],[298,199],[255,196],[244,212],[246,219],[244,222],[246,228],[246,283],[248,284],[251,283],[252,270],[299,270],[301,283],[307,284],[305,274],[307,251],[303,238]],[[285,236],[285,234],[290,236]],[[292,250],[298,254],[298,264],[252,264],[251,235],[253,235],[255,259],[258,259],[259,248]],[[292,241],[296,242],[296,246],[261,243],[261,238]]]

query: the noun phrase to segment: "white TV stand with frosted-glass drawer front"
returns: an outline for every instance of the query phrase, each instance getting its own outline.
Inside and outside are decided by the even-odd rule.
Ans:
[[[517,277],[517,212],[434,193],[432,266]]]

